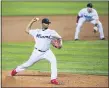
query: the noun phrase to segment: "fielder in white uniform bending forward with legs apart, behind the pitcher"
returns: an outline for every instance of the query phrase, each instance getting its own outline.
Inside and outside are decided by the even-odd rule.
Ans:
[[[99,16],[97,11],[93,9],[92,3],[88,3],[87,8],[81,9],[78,13],[76,21],[76,32],[74,37],[75,40],[79,39],[78,35],[84,22],[90,22],[94,24],[94,33],[96,33],[98,30],[100,33],[100,39],[105,40],[102,23],[99,21]]]

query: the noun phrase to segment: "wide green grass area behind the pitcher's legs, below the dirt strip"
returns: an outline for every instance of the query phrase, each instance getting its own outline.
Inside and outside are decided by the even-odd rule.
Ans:
[[[34,44],[3,43],[2,70],[11,70],[28,60]],[[57,58],[58,72],[108,75],[108,41],[64,41],[58,50],[51,46]],[[50,63],[41,60],[29,70],[50,72]]]

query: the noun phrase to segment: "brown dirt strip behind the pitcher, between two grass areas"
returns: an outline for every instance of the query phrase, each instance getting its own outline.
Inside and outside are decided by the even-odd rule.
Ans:
[[[25,33],[30,20],[35,16],[2,17],[2,41],[25,42],[33,41],[32,37]],[[32,28],[40,28],[42,18],[49,18],[52,22],[50,29],[56,30],[63,40],[73,40],[76,28],[76,16],[37,16],[40,21],[33,24]],[[108,16],[100,16],[104,28],[105,38],[108,39]],[[99,40],[99,33],[93,33],[93,25],[85,23],[80,32],[81,40]]]

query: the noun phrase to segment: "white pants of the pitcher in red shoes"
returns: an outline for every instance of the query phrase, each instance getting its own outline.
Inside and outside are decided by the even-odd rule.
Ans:
[[[50,49],[47,50],[46,52],[40,52],[34,49],[29,60],[26,61],[24,64],[17,66],[16,71],[17,72],[23,71],[41,59],[46,59],[51,63],[51,80],[56,79],[57,78],[57,62],[56,62],[56,58],[54,54],[52,53]]]

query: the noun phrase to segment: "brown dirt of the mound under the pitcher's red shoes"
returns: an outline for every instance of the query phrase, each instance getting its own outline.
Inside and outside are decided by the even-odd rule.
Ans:
[[[50,73],[24,71],[16,76],[8,76],[2,71],[2,87],[108,87],[108,76],[59,73],[60,85],[50,84]]]

